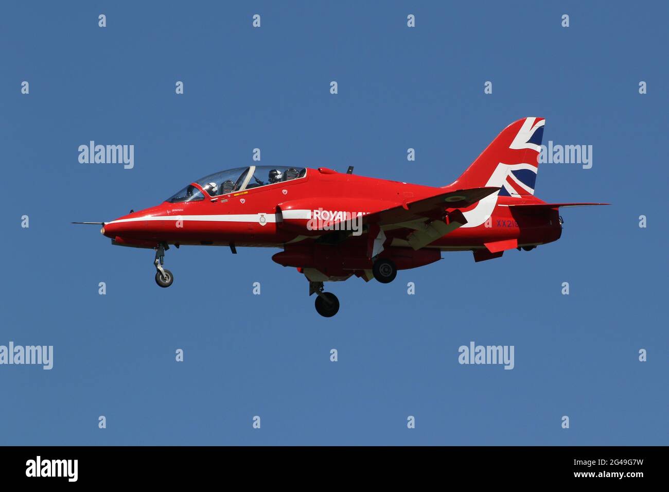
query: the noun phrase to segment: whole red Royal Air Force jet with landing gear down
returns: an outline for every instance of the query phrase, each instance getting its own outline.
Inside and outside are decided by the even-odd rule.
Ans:
[[[324,317],[339,300],[323,282],[358,276],[391,282],[397,270],[470,250],[474,261],[504,251],[529,251],[559,239],[560,207],[606,203],[545,203],[534,196],[545,120],[506,127],[456,181],[432,187],[338,173],[319,167],[248,166],[193,181],[153,208],[102,224],[112,244],[153,248],[156,282],[173,244],[281,248],[272,260],[296,267]]]

